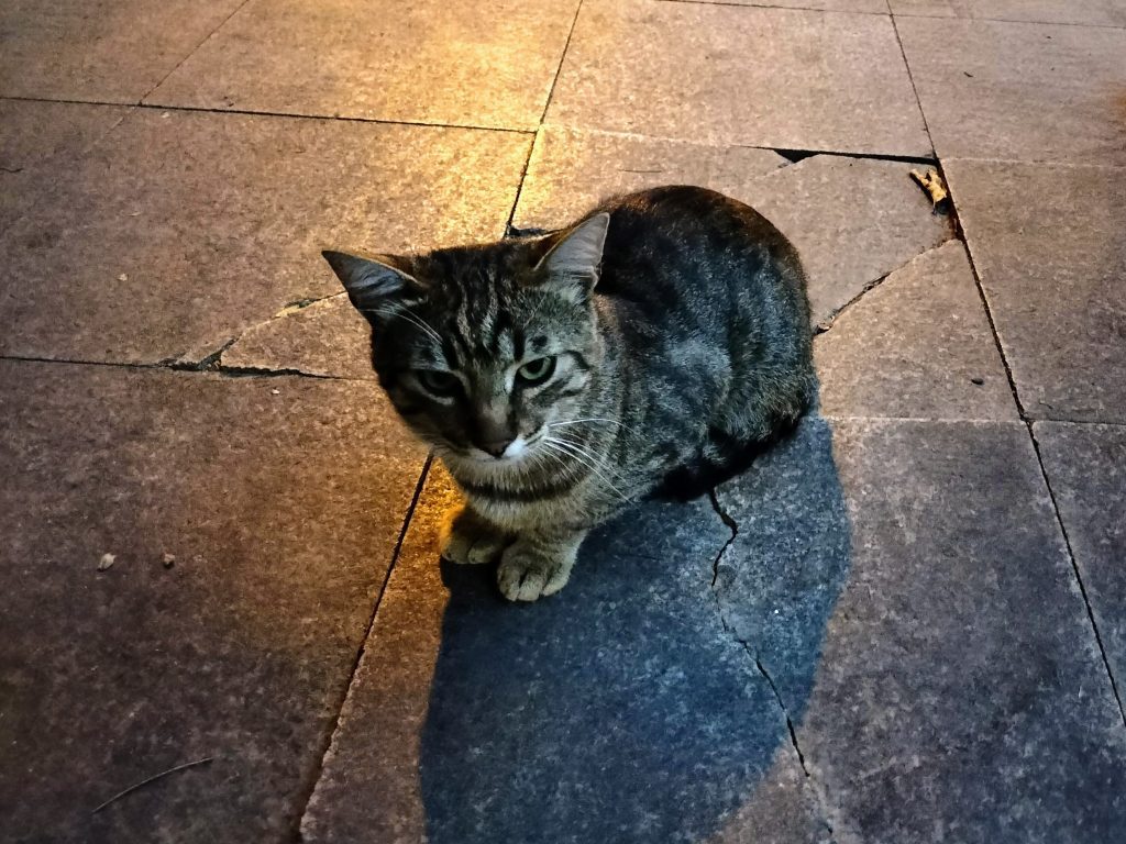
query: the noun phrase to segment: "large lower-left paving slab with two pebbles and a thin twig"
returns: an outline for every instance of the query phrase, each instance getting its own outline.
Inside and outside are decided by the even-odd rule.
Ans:
[[[0,837],[291,841],[421,450],[310,378],[0,361]]]

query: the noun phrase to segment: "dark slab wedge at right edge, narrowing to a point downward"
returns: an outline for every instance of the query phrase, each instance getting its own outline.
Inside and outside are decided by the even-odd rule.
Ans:
[[[1110,670],[1126,693],[1126,428],[1037,422],[1033,430]]]

